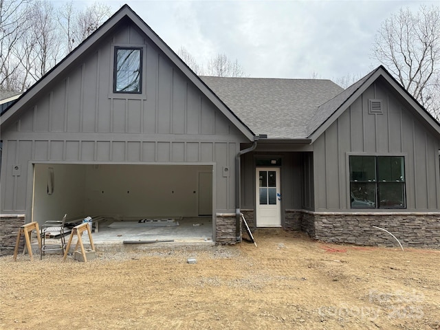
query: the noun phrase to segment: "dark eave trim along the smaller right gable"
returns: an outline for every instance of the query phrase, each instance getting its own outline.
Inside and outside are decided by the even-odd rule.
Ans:
[[[335,122],[340,115],[342,115],[342,113],[347,110],[347,108],[353,104],[353,102],[355,100],[357,100],[362,93],[364,93],[364,91],[372,84],[375,82],[375,80],[377,80],[377,78],[379,78],[380,76],[382,76],[392,87],[393,89],[395,89],[395,91],[397,91],[397,93],[406,100],[406,102],[408,102],[410,104],[410,106],[415,109],[417,111],[417,113],[419,113],[419,115],[421,115],[421,117],[426,120],[426,122],[428,122],[428,124],[430,124],[430,126],[432,127],[432,129],[434,129],[434,131],[437,131],[437,133],[440,135],[440,124],[439,122],[437,122],[437,120],[434,120],[434,118],[432,118],[432,116],[428,113],[428,111],[426,111],[425,109],[423,109],[423,107],[421,107],[421,104],[419,104],[419,102],[417,102],[417,100],[415,100],[415,98],[413,98],[412,96],[410,96],[410,94],[408,93],[408,91],[406,91],[403,87],[401,87],[401,85],[399,83],[397,83],[397,80],[395,80],[387,71],[386,69],[384,69],[384,67],[380,66],[376,72],[374,72],[371,77],[369,77],[363,84],[361,87],[359,87],[353,94],[351,94],[351,96],[349,98],[347,98],[347,100],[345,100],[345,102],[329,117],[327,118],[327,120],[320,126],[318,127],[318,129],[316,129],[314,131],[314,133],[311,133],[311,135],[309,135],[309,139],[311,140],[311,143],[314,143],[318,137],[320,137],[320,135],[322,135],[322,133],[324,133],[331,124],[333,124],[333,122]]]

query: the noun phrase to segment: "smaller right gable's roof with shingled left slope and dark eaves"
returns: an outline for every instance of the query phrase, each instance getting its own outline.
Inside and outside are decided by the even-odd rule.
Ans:
[[[314,142],[338,117],[347,110],[348,107],[371,86],[378,78],[382,77],[394,91],[399,94],[406,102],[408,102],[411,109],[414,109],[415,115],[421,118],[430,128],[440,135],[440,123],[435,120],[432,115],[421,106],[419,102],[409,94],[404,87],[402,87],[393,76],[380,65],[372,72],[358,80],[341,94],[335,98],[328,100],[322,104],[314,118],[312,118],[307,128],[311,142]]]

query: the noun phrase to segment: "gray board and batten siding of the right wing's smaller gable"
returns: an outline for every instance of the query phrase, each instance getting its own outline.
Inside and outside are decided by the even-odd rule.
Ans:
[[[369,113],[369,100],[382,113]],[[314,141],[316,211],[350,211],[349,155],[403,156],[406,208],[440,208],[440,139],[415,111],[377,79]],[[399,212],[399,210],[394,210]]]

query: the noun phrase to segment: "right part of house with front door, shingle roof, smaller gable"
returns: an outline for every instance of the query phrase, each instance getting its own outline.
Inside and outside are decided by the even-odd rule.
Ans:
[[[439,123],[384,67],[323,102],[335,91],[319,80],[203,80],[252,131],[267,135],[241,158],[241,212],[251,226],[396,244],[388,230],[403,245],[439,248]],[[267,220],[259,197],[271,171],[281,177],[274,211],[281,217]]]

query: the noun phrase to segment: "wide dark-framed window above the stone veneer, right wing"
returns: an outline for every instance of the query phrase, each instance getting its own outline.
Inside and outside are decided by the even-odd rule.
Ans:
[[[351,208],[405,208],[401,156],[350,156]]]

